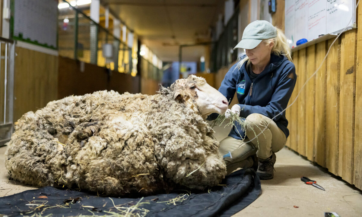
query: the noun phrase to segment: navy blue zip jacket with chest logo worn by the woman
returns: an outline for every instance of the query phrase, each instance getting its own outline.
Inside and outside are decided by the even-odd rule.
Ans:
[[[245,61],[240,69],[237,68],[237,64],[229,69],[219,92],[231,102],[236,91],[238,105],[242,108],[240,116],[243,118],[253,113],[273,118],[287,107],[293,92],[296,82],[294,64],[283,55],[271,54],[270,64],[253,82],[245,70],[246,64]],[[288,120],[285,118],[285,111],[273,120],[288,137]],[[239,124],[235,124],[237,129],[233,127],[229,136],[241,139],[240,135],[244,137],[245,132]]]

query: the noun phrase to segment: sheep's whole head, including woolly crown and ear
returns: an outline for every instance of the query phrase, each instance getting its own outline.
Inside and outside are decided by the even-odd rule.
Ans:
[[[175,100],[184,102],[204,118],[214,112],[224,114],[228,108],[226,97],[207,84],[205,78],[190,75],[177,80],[171,88]]]

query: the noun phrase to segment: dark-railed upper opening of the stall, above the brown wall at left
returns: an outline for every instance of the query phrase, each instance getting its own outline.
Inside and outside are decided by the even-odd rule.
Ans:
[[[105,44],[111,44],[111,58],[102,55]],[[60,56],[119,72],[132,71],[132,48],[71,5],[58,12],[58,49]]]

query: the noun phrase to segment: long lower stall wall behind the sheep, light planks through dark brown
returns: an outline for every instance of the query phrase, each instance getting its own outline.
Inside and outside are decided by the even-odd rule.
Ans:
[[[28,111],[36,111],[50,101],[69,95],[97,90],[139,93],[139,77],[108,72],[87,63],[84,72],[80,72],[79,61],[21,47],[16,47],[16,54],[14,121]]]

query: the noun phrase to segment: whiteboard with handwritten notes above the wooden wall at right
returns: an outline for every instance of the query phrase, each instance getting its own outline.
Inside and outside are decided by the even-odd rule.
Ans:
[[[355,0],[285,0],[285,35],[291,47],[299,39],[312,41],[355,22]]]

